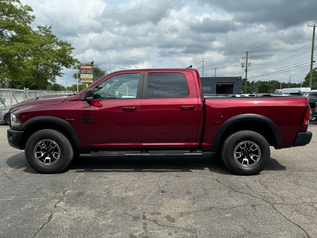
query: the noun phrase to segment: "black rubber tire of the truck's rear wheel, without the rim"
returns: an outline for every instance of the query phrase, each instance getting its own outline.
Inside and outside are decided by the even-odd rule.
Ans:
[[[236,146],[243,141],[251,141],[260,147],[261,157],[258,163],[254,166],[243,167],[234,159],[234,150]],[[228,166],[230,169],[241,175],[254,175],[260,173],[266,166],[270,153],[267,141],[260,134],[250,131],[250,133],[236,133],[226,145],[226,155]]]

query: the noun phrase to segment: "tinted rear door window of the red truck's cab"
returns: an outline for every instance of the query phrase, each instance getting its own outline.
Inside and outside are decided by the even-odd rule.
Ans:
[[[149,73],[147,98],[185,98],[188,88],[182,73]]]

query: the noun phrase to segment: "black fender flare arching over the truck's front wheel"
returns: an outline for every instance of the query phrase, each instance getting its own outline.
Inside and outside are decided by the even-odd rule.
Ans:
[[[26,130],[30,125],[32,125],[34,123],[38,123],[38,122],[52,122],[52,123],[55,123],[55,124],[62,126],[71,136],[71,139],[74,141],[75,146],[78,149],[78,151],[80,151],[80,152],[83,151],[79,137],[78,137],[75,129],[67,121],[60,119],[60,118],[51,117],[51,116],[39,116],[39,117],[28,119],[27,121],[25,121],[21,125],[21,127],[17,127],[17,128],[13,128],[13,129]]]

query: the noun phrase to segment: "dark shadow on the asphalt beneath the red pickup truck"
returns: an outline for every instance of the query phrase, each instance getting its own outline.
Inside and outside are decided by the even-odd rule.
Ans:
[[[19,153],[7,159],[6,164],[14,169],[24,168],[23,171],[37,174],[26,162],[24,153]],[[202,157],[107,157],[75,159],[62,173],[74,171],[75,173],[138,173],[138,172],[187,172],[193,170],[208,170],[212,173],[233,175],[223,164],[216,153],[205,153]],[[277,160],[270,158],[264,171],[282,171],[286,167]]]

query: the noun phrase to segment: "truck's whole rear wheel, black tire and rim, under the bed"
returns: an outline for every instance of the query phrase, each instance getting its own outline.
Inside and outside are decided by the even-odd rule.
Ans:
[[[265,138],[251,130],[231,134],[223,143],[221,157],[229,170],[238,175],[255,175],[266,166],[270,149]]]

